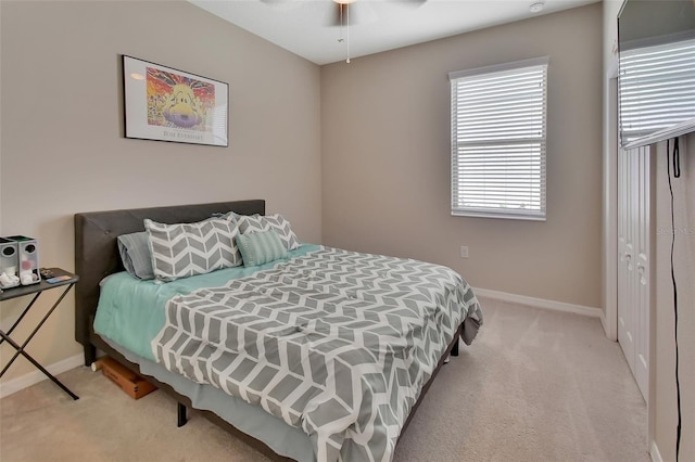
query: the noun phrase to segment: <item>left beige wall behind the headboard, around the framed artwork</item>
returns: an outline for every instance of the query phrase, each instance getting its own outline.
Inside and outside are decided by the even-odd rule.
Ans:
[[[42,266],[73,269],[73,214],[112,208],[265,198],[320,242],[318,66],[187,2],[0,8],[0,234],[37,238]],[[121,54],[228,82],[229,147],[124,139]],[[2,303],[4,329],[24,301]],[[73,312],[71,295],[29,345],[40,362],[80,351]]]

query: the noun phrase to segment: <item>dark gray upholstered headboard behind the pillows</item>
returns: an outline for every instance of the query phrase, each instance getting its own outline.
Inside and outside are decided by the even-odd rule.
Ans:
[[[170,207],[132,208],[91,211],[75,215],[75,339],[90,344],[91,323],[99,300],[99,282],[109,274],[123,271],[116,238],[144,231],[143,219],[162,223],[204,220],[215,213],[233,210],[240,215],[265,215],[265,201],[233,201]]]

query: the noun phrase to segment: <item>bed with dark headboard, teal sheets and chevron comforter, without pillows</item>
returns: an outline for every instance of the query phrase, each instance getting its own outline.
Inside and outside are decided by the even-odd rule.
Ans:
[[[243,247],[235,234],[247,265],[157,281],[124,271],[119,235],[147,226],[155,242],[156,226],[211,217],[248,224],[265,201],[75,215],[85,364],[108,354],[172,395],[179,425],[195,409],[275,460],[391,460],[437,372],[482,323],[470,286],[437,265],[278,241],[279,228],[247,227]],[[258,259],[250,248],[271,245],[250,238],[286,248]]]

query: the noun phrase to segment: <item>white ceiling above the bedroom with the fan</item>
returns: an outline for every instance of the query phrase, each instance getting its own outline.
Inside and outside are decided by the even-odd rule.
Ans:
[[[320,65],[601,0],[353,0],[343,26],[332,0],[188,1]]]

